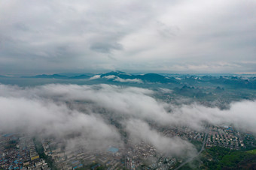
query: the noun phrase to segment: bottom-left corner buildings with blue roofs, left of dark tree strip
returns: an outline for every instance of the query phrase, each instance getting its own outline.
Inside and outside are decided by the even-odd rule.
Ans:
[[[28,136],[0,134],[0,169],[50,170]]]

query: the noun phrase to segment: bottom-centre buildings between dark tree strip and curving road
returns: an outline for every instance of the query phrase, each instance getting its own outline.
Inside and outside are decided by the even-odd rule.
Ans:
[[[175,158],[160,155],[153,146],[145,142],[133,144],[128,141],[125,147],[109,146],[105,151],[88,151],[85,148],[73,148],[69,151],[63,145],[54,139],[42,140],[44,154],[53,158],[57,169],[97,169],[101,166],[109,170],[169,169],[177,163]]]

